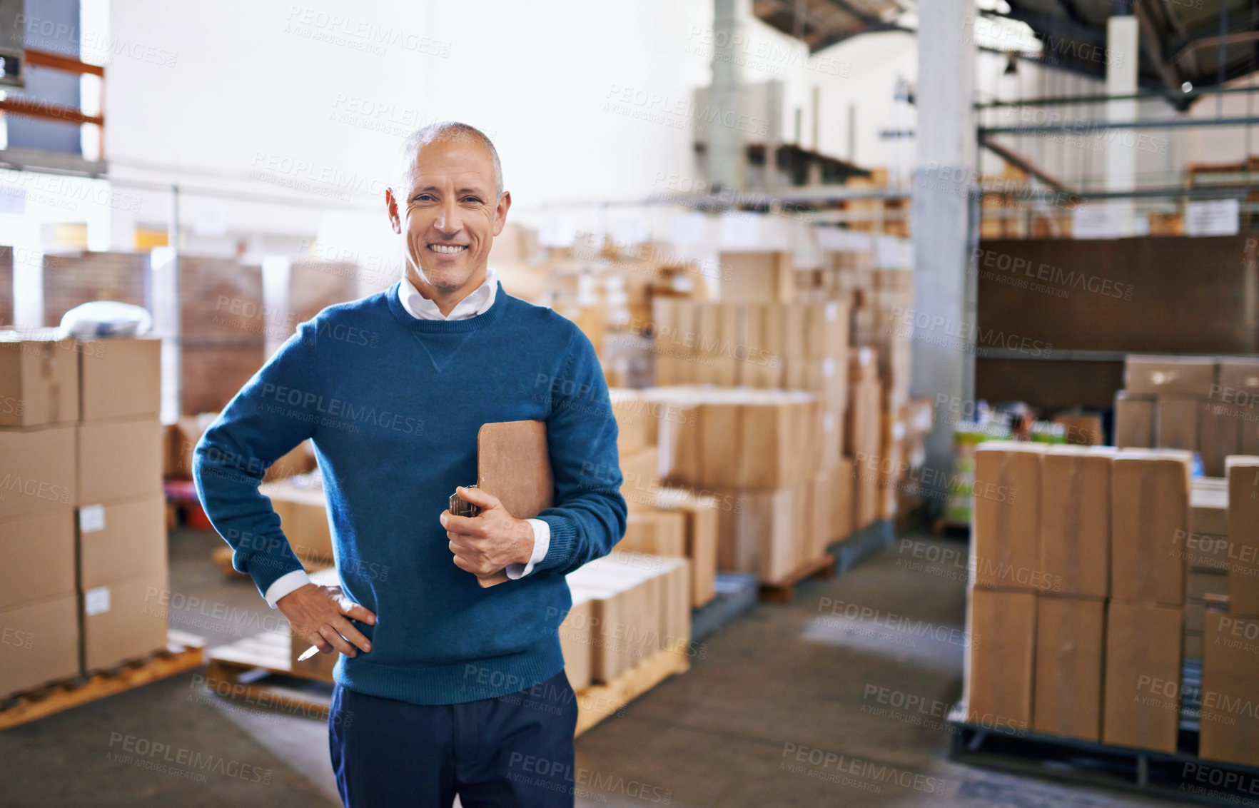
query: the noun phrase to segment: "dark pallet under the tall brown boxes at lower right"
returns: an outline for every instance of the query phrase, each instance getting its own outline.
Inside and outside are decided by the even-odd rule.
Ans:
[[[1197,748],[1196,724],[1185,720],[1177,753],[981,726],[967,722],[961,707],[949,714],[947,724],[948,758],[956,763],[1204,805],[1249,804],[1253,792],[1240,787],[1259,788],[1259,769],[1183,751]],[[1206,783],[1199,777],[1204,772],[1211,773]]]

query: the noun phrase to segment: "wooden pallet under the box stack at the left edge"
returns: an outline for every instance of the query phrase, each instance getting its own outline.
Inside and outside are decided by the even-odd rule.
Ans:
[[[54,682],[0,702],[0,730],[191,671],[201,667],[204,662],[204,639],[170,629],[166,632],[166,648],[144,659],[126,662],[117,668],[92,676]]]

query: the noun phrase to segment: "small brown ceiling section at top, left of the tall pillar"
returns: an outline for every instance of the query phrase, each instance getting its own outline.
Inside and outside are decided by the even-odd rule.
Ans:
[[[895,0],[754,0],[760,21],[803,40],[811,53],[867,31],[906,30]]]

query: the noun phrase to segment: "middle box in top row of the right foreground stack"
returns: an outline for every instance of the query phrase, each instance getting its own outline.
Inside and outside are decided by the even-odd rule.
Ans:
[[[1109,447],[1053,446],[1041,461],[1040,570],[1053,592],[1110,594]]]

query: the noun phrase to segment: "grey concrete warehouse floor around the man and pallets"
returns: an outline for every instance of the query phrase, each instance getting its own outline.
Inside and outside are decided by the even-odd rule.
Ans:
[[[171,608],[171,626],[212,646],[273,627],[278,615],[247,579],[229,580],[214,566],[210,550],[218,542],[213,534],[186,530],[170,541],[172,604],[181,607]],[[577,804],[1166,804],[954,765],[944,759],[942,727],[883,712],[880,699],[948,705],[961,692],[962,643],[895,627],[899,615],[963,628],[964,566],[920,566],[914,558],[914,549],[937,544],[963,549],[915,537],[847,575],[802,585],[789,607],[758,607],[708,638],[689,673],[578,739]],[[194,597],[205,605],[189,607]],[[845,617],[862,608],[872,612]],[[322,721],[224,701],[204,693],[198,676],[0,732],[0,804],[340,804]],[[127,760],[122,751],[138,739],[223,765],[196,772],[204,780],[147,768],[155,756],[130,753]],[[835,763],[797,761],[797,751],[806,750],[807,760],[812,749],[821,750],[815,760],[826,753],[846,756],[846,772],[837,773]],[[915,788],[849,774],[864,764],[922,777]]]

